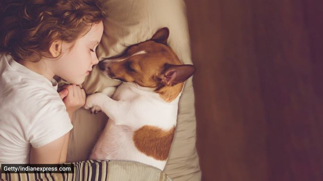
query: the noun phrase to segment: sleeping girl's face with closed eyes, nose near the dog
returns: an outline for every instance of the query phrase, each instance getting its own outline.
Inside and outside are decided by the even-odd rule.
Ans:
[[[78,38],[71,48],[70,43],[63,42],[62,56],[55,62],[55,75],[72,84],[83,83],[85,76],[98,63],[95,49],[103,34],[102,22],[93,24],[90,31]]]

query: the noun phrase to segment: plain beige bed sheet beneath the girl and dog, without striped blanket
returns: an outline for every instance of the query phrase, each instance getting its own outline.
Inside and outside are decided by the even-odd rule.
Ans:
[[[168,27],[168,44],[185,64],[192,64],[186,9],[182,0],[101,0],[107,18],[104,33],[97,49],[99,60],[121,54],[127,46],[143,42],[160,28]],[[120,82],[101,74],[97,66],[83,83],[87,94],[101,92],[104,87]],[[78,115],[78,116],[77,116]],[[88,112],[79,110],[74,120],[68,158],[80,161],[94,145],[104,127],[104,115],[96,115],[95,122]],[[91,128],[88,134],[88,128]],[[176,133],[165,167],[174,180],[200,180],[201,171],[195,148],[196,119],[192,78],[188,79],[180,98]],[[85,141],[86,140],[86,141]],[[74,155],[74,156],[73,156]]]

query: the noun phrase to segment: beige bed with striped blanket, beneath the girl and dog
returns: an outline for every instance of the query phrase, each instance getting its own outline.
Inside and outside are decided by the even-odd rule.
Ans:
[[[184,1],[101,0],[101,3],[107,18],[103,22],[104,33],[97,48],[99,60],[116,56],[122,53],[127,46],[150,39],[157,29],[168,27],[170,30],[168,44],[184,63],[192,64]],[[107,86],[119,84],[119,81],[105,77],[95,66],[82,87],[87,94],[93,94],[101,92]],[[101,165],[96,170],[102,171],[93,175],[91,172],[91,177],[84,177],[84,171],[82,173],[76,171],[72,175],[71,173],[66,173],[67,175],[37,174],[36,177],[32,177],[33,174],[30,173],[29,178],[31,180],[40,178],[44,180],[99,180],[100,178],[102,180],[178,181],[201,179],[195,148],[196,119],[192,78],[186,81],[180,98],[175,137],[164,171],[135,162],[87,160],[106,120],[107,117],[103,113],[91,115],[88,110],[76,111],[73,116],[74,129],[70,136],[67,158],[67,161],[75,163],[78,169],[80,167],[81,170],[89,169]],[[2,178],[8,179],[8,176],[17,176],[17,174],[4,175],[2,173]]]

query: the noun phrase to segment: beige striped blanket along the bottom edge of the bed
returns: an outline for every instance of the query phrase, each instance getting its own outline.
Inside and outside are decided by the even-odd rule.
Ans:
[[[74,173],[1,173],[0,180],[151,180],[171,181],[165,172],[138,162],[87,160],[74,162]]]

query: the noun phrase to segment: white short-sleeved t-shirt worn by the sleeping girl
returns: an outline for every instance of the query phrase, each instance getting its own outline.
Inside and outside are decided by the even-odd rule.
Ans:
[[[55,79],[49,81],[8,54],[0,54],[0,73],[0,164],[29,163],[30,146],[44,146],[73,125]]]

